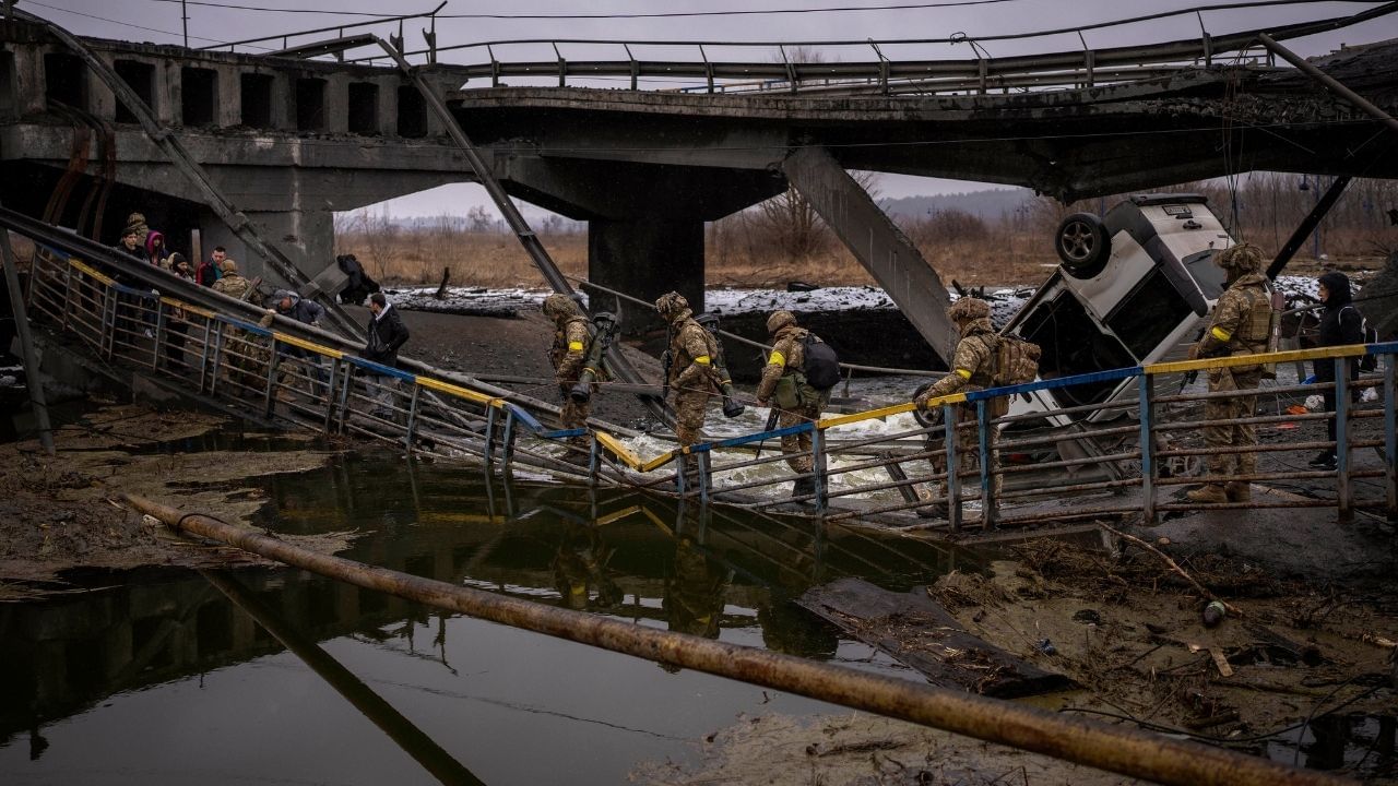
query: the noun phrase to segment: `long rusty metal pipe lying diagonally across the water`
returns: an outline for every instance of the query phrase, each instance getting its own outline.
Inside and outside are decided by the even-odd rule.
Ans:
[[[214,538],[296,568],[355,586],[387,592],[492,622],[600,646],[635,657],[791,691],[804,696],[877,712],[1012,745],[1054,758],[1180,786],[1321,786],[1339,783],[1321,773],[1265,759],[1106,726],[1007,701],[973,696],[826,663],[674,634],[619,620],[500,597],[493,593],[375,568],[317,554],[259,531],[127,495],[127,502],[166,524]]]

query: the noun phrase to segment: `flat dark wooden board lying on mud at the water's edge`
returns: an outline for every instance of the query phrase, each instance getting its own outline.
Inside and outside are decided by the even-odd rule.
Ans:
[[[925,587],[893,593],[860,579],[812,587],[797,601],[941,687],[1026,696],[1074,687],[960,627]]]

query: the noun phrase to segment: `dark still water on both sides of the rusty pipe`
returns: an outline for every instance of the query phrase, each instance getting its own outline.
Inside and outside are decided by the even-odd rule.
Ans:
[[[979,566],[394,455],[264,491],[274,531],[361,530],[354,559],[900,676],[788,600],[846,575],[905,589]],[[81,580],[103,589],[0,607],[3,783],[621,783],[744,715],[839,712],[299,571]]]

